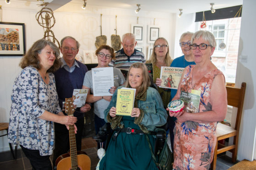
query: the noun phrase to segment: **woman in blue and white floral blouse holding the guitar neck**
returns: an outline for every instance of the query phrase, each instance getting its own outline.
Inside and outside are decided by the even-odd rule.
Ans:
[[[21,146],[34,170],[52,170],[54,122],[73,125],[77,120],[59,106],[52,73],[60,67],[59,54],[50,41],[35,42],[19,64],[23,70],[11,93],[8,142]]]

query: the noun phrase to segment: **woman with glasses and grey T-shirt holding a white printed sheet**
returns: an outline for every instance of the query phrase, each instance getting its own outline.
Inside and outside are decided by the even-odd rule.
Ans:
[[[96,68],[109,67],[109,62],[114,57],[114,49],[108,45],[100,46],[95,54],[98,56],[98,66]],[[123,76],[120,69],[113,68],[114,71],[114,87],[109,87],[109,93],[114,94],[116,88],[125,83],[125,77]],[[104,121],[104,110],[109,106],[109,102],[112,99],[112,96],[93,96],[93,77],[92,70],[88,71],[85,74],[83,81],[83,89],[88,89],[88,95],[86,102],[94,103],[94,123],[95,123],[95,132],[96,134],[106,122]],[[100,145],[98,143],[98,148]]]

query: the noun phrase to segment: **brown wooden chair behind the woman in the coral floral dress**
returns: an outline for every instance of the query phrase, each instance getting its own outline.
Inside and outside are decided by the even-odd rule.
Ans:
[[[242,117],[243,105],[244,105],[244,99],[245,99],[245,88],[246,88],[245,82],[242,83],[240,89],[226,86],[228,105],[237,107],[235,127],[231,128],[228,125],[224,125],[222,123],[217,124],[217,143],[214,150],[214,156],[213,156],[212,165],[211,165],[212,170],[216,169],[217,155],[223,152],[226,152],[226,151],[232,152],[232,161],[233,162],[236,161],[240,121]],[[220,140],[230,138],[230,137],[234,137],[234,141],[232,145],[226,146],[218,142]]]

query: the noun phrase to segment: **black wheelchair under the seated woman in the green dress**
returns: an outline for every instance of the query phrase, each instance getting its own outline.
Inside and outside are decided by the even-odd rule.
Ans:
[[[157,156],[159,154],[164,146],[165,140],[167,138],[166,136],[166,130],[168,129],[168,123],[163,125],[162,127],[156,128],[157,131],[151,132],[151,135],[156,136],[156,143],[154,147],[154,155]],[[108,149],[109,141],[113,135],[114,130],[110,128],[110,123],[106,123],[103,125],[102,128],[99,129],[98,134],[96,136],[93,136],[93,139],[95,139],[98,143],[106,142],[105,144],[105,150]]]

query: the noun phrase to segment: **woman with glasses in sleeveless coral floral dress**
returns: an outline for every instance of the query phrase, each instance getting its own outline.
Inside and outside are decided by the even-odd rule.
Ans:
[[[198,31],[191,38],[190,48],[196,65],[184,69],[178,91],[173,100],[180,99],[180,92],[199,90],[199,112],[169,112],[176,117],[174,128],[174,169],[208,170],[216,146],[216,126],[227,112],[227,91],[223,73],[210,58],[216,41],[211,32]],[[169,110],[169,109],[167,109]]]

